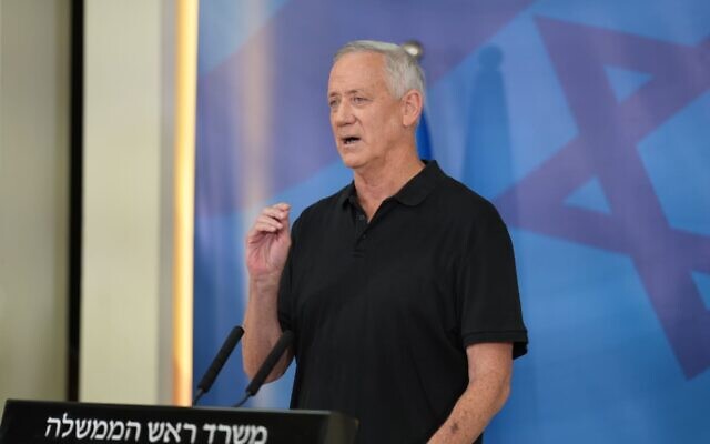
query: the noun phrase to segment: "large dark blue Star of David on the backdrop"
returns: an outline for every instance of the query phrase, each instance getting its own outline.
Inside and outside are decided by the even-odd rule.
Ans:
[[[692,272],[710,273],[710,236],[669,224],[638,144],[708,91],[710,41],[689,47],[547,18],[537,27],[578,133],[496,205],[511,226],[630,256],[683,373],[697,376],[710,367],[710,311]],[[651,79],[619,102],[605,64]],[[564,203],[592,179],[609,214]]]

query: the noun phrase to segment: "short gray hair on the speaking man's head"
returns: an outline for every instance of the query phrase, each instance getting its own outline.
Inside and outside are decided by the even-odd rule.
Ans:
[[[333,63],[353,52],[377,52],[385,57],[387,83],[396,99],[402,99],[409,90],[417,90],[422,93],[422,99],[425,98],[424,71],[415,58],[400,46],[375,40],[355,40],[337,50]]]

